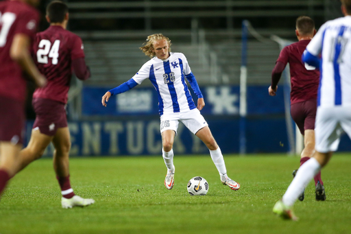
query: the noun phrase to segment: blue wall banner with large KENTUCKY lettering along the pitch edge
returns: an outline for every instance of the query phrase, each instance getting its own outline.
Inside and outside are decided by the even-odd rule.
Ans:
[[[239,152],[239,119],[208,118],[210,130],[224,154]],[[32,122],[27,123],[28,140]],[[249,121],[250,152],[287,152],[285,119],[252,119]],[[277,132],[271,129],[277,129]],[[119,156],[161,154],[160,119],[143,120],[132,118],[122,121],[69,121],[71,132],[71,155],[75,156]],[[267,134],[257,134],[267,132]],[[208,154],[202,141],[183,124],[179,124],[175,137],[175,154]],[[53,147],[45,155],[51,156]]]

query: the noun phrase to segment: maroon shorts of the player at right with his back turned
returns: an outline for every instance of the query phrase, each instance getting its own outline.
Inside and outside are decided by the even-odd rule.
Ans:
[[[297,102],[290,107],[291,117],[298,126],[301,134],[304,130],[315,130],[315,113],[317,112],[317,100],[311,99],[304,102]]]

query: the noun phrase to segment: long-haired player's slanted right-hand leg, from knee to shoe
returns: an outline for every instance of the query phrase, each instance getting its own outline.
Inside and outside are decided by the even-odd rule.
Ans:
[[[215,163],[217,167],[223,185],[228,185],[228,187],[230,187],[230,189],[233,190],[240,189],[239,183],[235,182],[227,176],[226,163],[224,163],[223,154],[221,152],[221,149],[217,145],[217,142],[215,141],[215,138],[213,137],[210,128],[206,126],[198,130],[195,135],[199,137],[199,139],[201,139],[205,143],[208,150],[210,150],[210,156],[212,158],[213,163]]]

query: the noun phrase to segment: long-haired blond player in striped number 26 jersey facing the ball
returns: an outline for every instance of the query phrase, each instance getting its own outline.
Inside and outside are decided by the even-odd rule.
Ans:
[[[137,84],[141,84],[143,80],[149,79],[158,93],[162,156],[167,166],[165,187],[172,189],[174,184],[173,141],[179,121],[182,121],[186,128],[199,137],[210,150],[210,156],[217,167],[223,185],[238,190],[240,185],[228,178],[221,149],[213,138],[206,120],[199,112],[205,106],[205,102],[188,61],[184,54],[172,53],[170,46],[171,40],[162,34],[148,36],[145,45],[140,49],[151,60],[145,62],[128,82],[106,92],[101,102],[106,106],[111,95],[128,91]],[[191,97],[185,78],[197,95],[197,106]]]

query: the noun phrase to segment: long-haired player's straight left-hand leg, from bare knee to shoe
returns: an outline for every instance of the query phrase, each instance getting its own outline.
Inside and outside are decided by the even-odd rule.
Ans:
[[[165,130],[162,132],[162,157],[167,167],[167,174],[165,178],[165,187],[172,189],[174,185],[174,172],[175,167],[173,164],[173,141],[175,132],[174,130]]]

